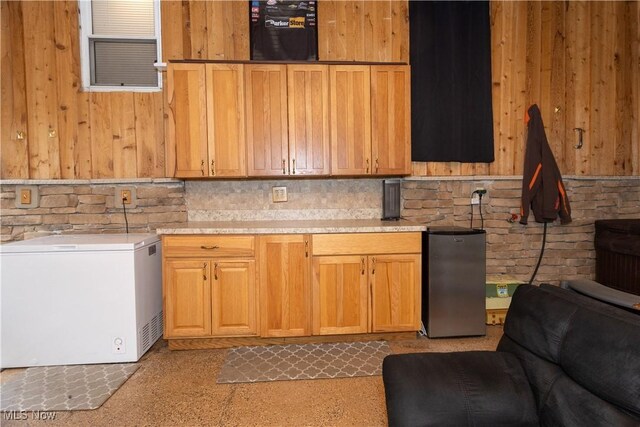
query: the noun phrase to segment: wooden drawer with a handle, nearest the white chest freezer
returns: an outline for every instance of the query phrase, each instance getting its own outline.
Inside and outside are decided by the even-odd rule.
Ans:
[[[165,257],[253,257],[254,236],[163,236]]]

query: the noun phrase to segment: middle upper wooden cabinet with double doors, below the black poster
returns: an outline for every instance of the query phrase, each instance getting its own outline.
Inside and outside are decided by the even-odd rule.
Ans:
[[[326,65],[246,66],[249,176],[328,175]]]

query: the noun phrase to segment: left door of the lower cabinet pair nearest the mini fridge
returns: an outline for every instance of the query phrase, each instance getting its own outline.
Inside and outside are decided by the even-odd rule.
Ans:
[[[313,257],[313,334],[368,331],[367,268],[362,256]]]

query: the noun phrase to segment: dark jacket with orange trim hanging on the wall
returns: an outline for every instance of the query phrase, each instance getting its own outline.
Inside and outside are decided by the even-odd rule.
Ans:
[[[552,222],[560,216],[560,223],[568,224],[571,222],[569,199],[544,132],[540,109],[536,104],[529,107],[525,121],[528,130],[520,223],[527,223],[531,208],[536,222]]]

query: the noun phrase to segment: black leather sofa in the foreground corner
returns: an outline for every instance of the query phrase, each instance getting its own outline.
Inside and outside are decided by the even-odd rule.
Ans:
[[[497,351],[391,355],[391,426],[640,426],[640,314],[520,286]]]

